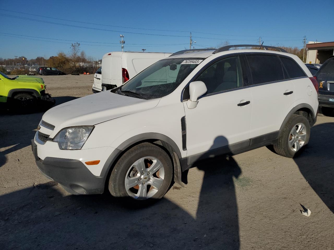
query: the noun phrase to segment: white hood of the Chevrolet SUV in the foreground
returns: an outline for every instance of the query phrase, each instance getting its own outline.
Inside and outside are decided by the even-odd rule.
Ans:
[[[55,126],[52,132],[54,136],[65,127],[96,125],[154,108],[159,100],[144,100],[104,91],[55,106],[45,112],[42,120]]]

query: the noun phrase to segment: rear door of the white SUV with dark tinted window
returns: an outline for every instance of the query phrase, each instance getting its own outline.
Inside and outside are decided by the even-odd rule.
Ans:
[[[252,82],[250,138],[271,134],[275,137],[295,106],[295,85],[287,77],[277,54],[246,54]],[[268,135],[270,140],[272,137]],[[272,138],[275,139],[275,138]]]

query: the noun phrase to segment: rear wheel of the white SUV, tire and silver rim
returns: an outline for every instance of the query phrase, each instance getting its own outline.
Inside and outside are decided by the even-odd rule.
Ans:
[[[296,128],[296,133],[293,131],[294,128]],[[294,135],[296,135],[295,138]],[[293,114],[285,125],[278,143],[273,145],[274,150],[279,155],[293,158],[296,153],[301,152],[305,148],[309,139],[309,121],[305,116]]]

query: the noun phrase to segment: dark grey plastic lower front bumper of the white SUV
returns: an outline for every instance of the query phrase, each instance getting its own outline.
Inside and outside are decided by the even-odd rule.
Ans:
[[[105,187],[104,176],[95,176],[79,160],[45,157],[37,155],[37,145],[31,140],[31,149],[39,170],[49,179],[61,184],[72,194],[102,194]]]

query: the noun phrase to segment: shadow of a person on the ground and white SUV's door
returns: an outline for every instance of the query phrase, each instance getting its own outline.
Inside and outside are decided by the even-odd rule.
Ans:
[[[215,149],[228,145],[224,136],[215,138],[209,151],[193,166],[204,171],[196,212],[194,233],[206,235],[200,239],[206,249],[239,249],[239,221],[234,180],[241,169],[231,154],[217,156]],[[230,152],[226,146],[226,152]],[[227,157],[226,157],[227,156]],[[188,172],[185,171],[185,175]],[[187,182],[187,178],[183,178]]]

